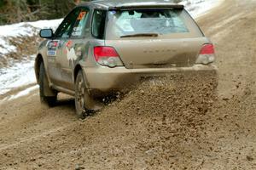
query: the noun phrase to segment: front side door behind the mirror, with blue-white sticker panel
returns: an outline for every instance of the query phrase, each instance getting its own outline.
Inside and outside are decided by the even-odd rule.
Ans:
[[[61,22],[61,25],[55,31],[54,38],[49,40],[47,43],[49,77],[51,82],[56,86],[63,87],[63,83],[67,81],[63,79],[61,73],[62,60],[67,60],[67,58],[63,56],[62,48],[66,45],[66,42],[70,37],[73,26],[79,15],[79,11],[80,8],[75,8],[71,13],[67,14],[67,17]]]

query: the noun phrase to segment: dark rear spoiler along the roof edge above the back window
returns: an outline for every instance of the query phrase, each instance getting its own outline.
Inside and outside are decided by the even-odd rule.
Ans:
[[[177,8],[183,9],[184,6],[174,3],[163,3],[163,4],[140,4],[140,5],[124,5],[124,6],[116,6],[116,7],[109,7],[108,10],[125,10],[125,9],[137,9],[137,8]]]

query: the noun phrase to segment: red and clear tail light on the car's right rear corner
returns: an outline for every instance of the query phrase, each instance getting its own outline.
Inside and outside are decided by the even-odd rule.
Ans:
[[[214,46],[212,43],[204,44],[201,48],[198,59],[196,60],[197,64],[207,65],[215,61],[215,52]]]

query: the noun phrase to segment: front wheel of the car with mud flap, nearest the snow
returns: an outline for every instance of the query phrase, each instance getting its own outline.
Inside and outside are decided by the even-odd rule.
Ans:
[[[49,88],[49,82],[45,74],[44,63],[40,64],[39,93],[42,105],[53,107],[57,101],[57,92]]]

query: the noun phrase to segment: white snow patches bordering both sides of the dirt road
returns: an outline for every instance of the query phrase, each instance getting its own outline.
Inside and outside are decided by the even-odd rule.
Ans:
[[[201,14],[218,5],[222,0],[183,0],[182,4],[188,9],[189,13],[194,17],[199,17]],[[14,46],[10,46],[6,38],[8,37],[23,37],[33,36],[38,34],[42,28],[53,28],[54,30],[59,26],[61,20],[39,20],[36,22],[24,22],[9,26],[0,26],[0,57],[3,54],[15,51]],[[34,74],[34,58],[30,60],[16,63],[12,67],[0,68],[0,96],[8,93],[14,88],[19,88],[36,82]],[[37,89],[38,86],[27,88],[18,94],[9,96],[3,100],[16,99],[20,96],[29,94],[32,90]]]

